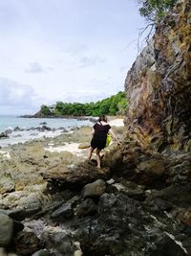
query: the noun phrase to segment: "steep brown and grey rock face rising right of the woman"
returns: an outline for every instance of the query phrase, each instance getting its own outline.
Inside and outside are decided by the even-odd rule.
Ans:
[[[143,147],[191,149],[191,5],[180,0],[127,74],[128,134]]]

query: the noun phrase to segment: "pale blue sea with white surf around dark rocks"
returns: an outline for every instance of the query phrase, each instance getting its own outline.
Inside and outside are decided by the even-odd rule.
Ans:
[[[39,131],[43,124],[53,130]],[[89,120],[72,118],[22,118],[13,115],[0,115],[0,133],[11,129],[9,138],[0,139],[0,146],[6,147],[12,144],[23,143],[41,137],[54,137],[63,132],[63,129],[71,131],[73,128],[91,126]],[[20,128],[22,130],[15,130]]]

